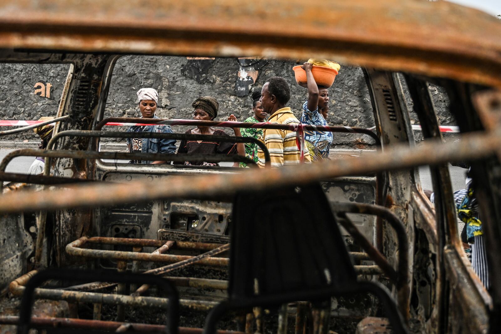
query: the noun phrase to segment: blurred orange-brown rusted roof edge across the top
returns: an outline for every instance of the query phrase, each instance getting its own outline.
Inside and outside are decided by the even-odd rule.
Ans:
[[[448,2],[337,0],[324,4],[319,16],[299,0],[132,1],[118,7],[112,0],[93,6],[78,0],[55,0],[51,6],[6,0],[0,22],[0,48],[316,56],[501,87],[499,23]]]

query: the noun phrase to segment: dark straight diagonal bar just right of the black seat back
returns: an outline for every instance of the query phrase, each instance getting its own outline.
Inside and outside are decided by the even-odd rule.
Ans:
[[[386,258],[381,254],[372,243],[367,240],[367,238],[359,231],[359,229],[353,224],[351,219],[349,219],[345,212],[338,212],[338,222],[343,226],[348,233],[355,239],[355,241],[369,254],[371,259],[376,262],[384,274],[394,283],[397,282],[398,276],[397,272],[388,263]]]

